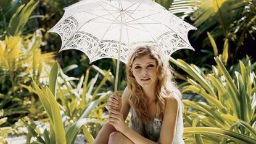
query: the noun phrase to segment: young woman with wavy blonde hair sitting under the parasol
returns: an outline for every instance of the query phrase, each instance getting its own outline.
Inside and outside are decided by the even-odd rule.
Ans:
[[[110,96],[109,121],[94,143],[184,143],[181,93],[157,48],[138,47],[126,65],[122,99]],[[131,112],[131,126],[125,124]]]

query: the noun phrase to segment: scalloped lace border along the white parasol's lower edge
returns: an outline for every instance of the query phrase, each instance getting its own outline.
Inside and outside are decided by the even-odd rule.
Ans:
[[[175,21],[173,21],[174,23]],[[194,28],[189,26],[185,22],[181,22],[177,26],[178,32],[180,34],[188,34],[190,29]],[[176,27],[176,26],[175,26]],[[83,51],[90,62],[96,61],[102,58],[117,58],[118,55],[118,45],[119,42],[116,40],[99,40],[97,37],[84,32],[76,31],[78,29],[78,22],[73,17],[69,17],[62,23],[59,23],[56,27],[52,28],[52,32],[57,32],[62,38],[62,45],[64,45],[60,51],[68,49],[76,49]],[[185,37],[185,36],[184,36]],[[176,32],[168,31],[160,35],[157,39],[157,43],[152,41],[139,41],[133,42],[130,45],[121,44],[121,56],[120,61],[127,63],[128,55],[130,52],[141,45],[151,45],[154,47],[159,47],[161,51],[165,53],[166,56],[170,56],[176,50],[182,48],[189,48],[194,50],[191,45],[189,45],[186,40],[183,40]]]

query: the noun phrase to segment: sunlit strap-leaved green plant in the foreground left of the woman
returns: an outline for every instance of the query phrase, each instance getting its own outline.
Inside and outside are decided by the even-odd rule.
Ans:
[[[105,107],[105,104],[101,104],[101,102],[104,102],[111,93],[110,91],[99,93],[99,89],[109,78],[109,72],[104,71],[104,78],[101,83],[99,83],[99,86],[94,88],[99,75],[96,75],[96,78],[93,78],[88,83],[89,70],[87,70],[85,80],[82,77],[77,87],[73,88],[72,81],[76,78],[67,77],[62,74],[62,71],[60,71],[60,77],[58,77],[58,67],[57,63],[52,66],[49,76],[49,88],[46,86],[45,89],[41,89],[36,85],[35,81],[33,82],[35,88],[27,87],[31,92],[39,96],[50,122],[50,130],[48,131],[47,128],[44,128],[43,131],[40,132],[35,130],[35,127],[40,127],[38,126],[39,124],[28,124],[23,121],[29,131],[27,142],[30,142],[31,137],[36,137],[36,140],[40,143],[74,143],[76,135],[81,129],[86,140],[89,143],[93,143],[94,138],[89,128],[94,129],[95,126],[93,126],[92,123],[103,123],[101,119],[97,119],[99,117],[102,118],[102,108]],[[71,68],[67,67],[65,71],[67,72],[68,69]],[[62,82],[59,83],[59,81]],[[62,105],[57,102],[57,97],[59,97]],[[93,118],[92,116],[99,111],[101,111],[101,113],[97,114],[98,117]],[[92,112],[93,114],[90,118],[89,115],[91,115]],[[44,124],[40,125],[44,127]]]

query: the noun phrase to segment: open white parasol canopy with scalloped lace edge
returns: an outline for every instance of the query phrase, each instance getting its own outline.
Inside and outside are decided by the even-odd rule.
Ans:
[[[83,51],[90,62],[115,58],[118,65],[119,59],[127,63],[139,45],[158,47],[168,58],[181,48],[194,50],[188,31],[196,28],[151,0],[85,0],[64,10],[49,32],[60,35],[60,51]]]

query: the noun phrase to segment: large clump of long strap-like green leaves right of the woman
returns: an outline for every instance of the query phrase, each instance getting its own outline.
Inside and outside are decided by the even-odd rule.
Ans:
[[[226,51],[214,58],[217,66],[207,73],[181,59],[170,59],[189,74],[182,93],[192,92],[204,99],[183,100],[184,138],[188,143],[256,143],[256,63],[251,64],[247,57],[239,61],[240,68],[234,65],[228,72],[223,64],[228,61]]]

